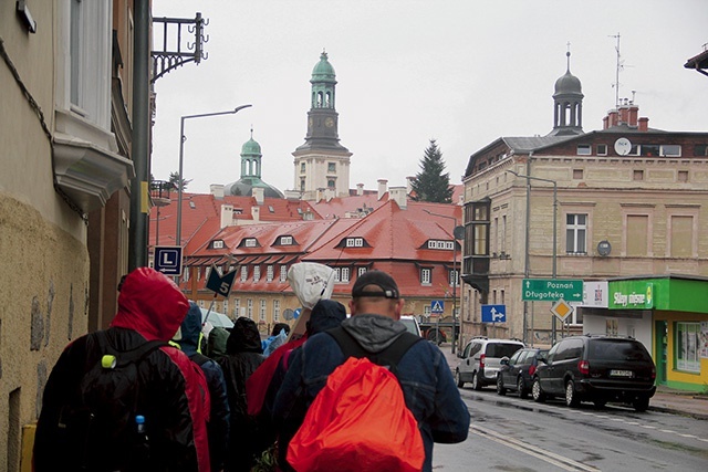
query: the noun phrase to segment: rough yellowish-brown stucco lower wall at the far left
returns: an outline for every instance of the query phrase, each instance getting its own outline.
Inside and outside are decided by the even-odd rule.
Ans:
[[[77,217],[76,217],[77,218]],[[0,192],[0,458],[17,457],[46,377],[86,332],[88,253],[32,206]],[[7,466],[0,461],[0,471]]]

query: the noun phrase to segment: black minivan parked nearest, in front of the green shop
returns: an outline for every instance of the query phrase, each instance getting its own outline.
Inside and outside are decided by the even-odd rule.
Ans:
[[[645,411],[656,386],[656,367],[642,343],[629,337],[571,336],[558,342],[533,375],[531,395],[535,401],[565,397],[576,407],[592,401],[632,403]]]

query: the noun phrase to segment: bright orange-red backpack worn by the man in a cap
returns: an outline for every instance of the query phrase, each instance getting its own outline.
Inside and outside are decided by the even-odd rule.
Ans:
[[[342,327],[326,333],[348,358],[330,374],[290,441],[290,465],[298,472],[420,471],[423,438],[395,376],[420,337],[404,333],[371,354]]]

